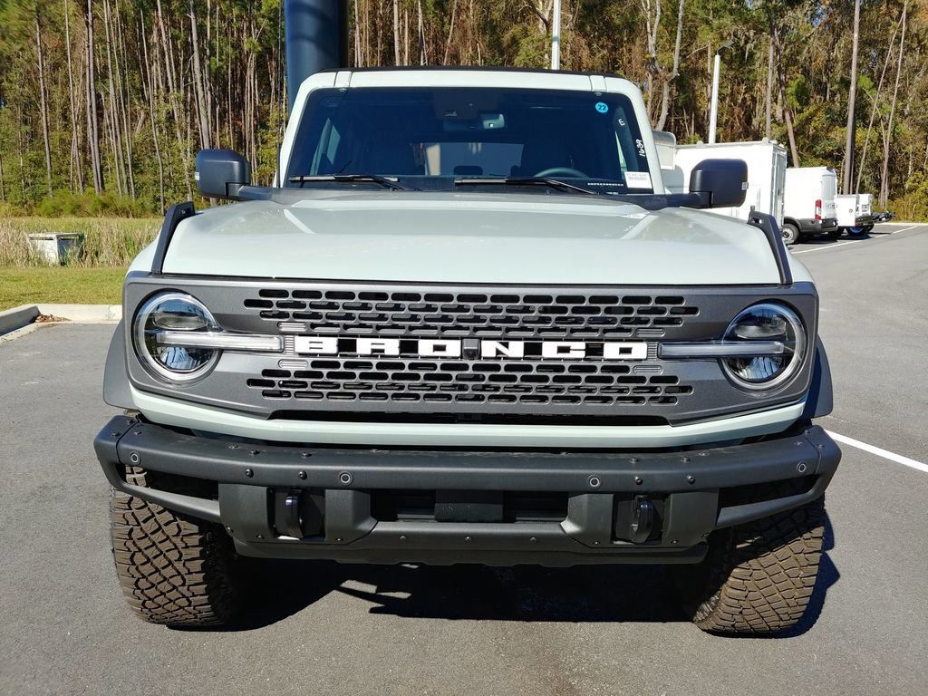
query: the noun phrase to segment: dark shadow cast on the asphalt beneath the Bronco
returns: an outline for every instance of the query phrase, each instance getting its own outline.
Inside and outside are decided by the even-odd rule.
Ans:
[[[806,633],[839,579],[826,517],[818,582],[806,616],[777,638]],[[332,591],[371,603],[370,613],[485,621],[685,622],[661,566],[573,568],[481,565],[343,565],[329,561],[256,564],[251,611],[231,630],[252,630],[301,612]]]

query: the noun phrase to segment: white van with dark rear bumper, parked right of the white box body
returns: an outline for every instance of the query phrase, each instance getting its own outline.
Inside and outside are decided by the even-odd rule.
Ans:
[[[783,241],[827,234],[840,237],[835,196],[838,174],[831,167],[790,167],[783,196]]]

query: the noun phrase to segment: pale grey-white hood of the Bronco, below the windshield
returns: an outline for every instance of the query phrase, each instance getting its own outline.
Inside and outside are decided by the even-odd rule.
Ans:
[[[763,233],[713,213],[648,212],[591,196],[318,193],[188,218],[164,272],[539,285],[780,282]]]

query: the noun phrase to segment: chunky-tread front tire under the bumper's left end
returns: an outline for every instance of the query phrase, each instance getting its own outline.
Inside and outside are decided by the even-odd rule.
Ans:
[[[148,486],[155,475],[161,490],[190,493],[169,477],[126,468],[133,485]],[[149,624],[209,626],[238,612],[241,561],[221,525],[113,489],[110,532],[116,574],[136,616]]]

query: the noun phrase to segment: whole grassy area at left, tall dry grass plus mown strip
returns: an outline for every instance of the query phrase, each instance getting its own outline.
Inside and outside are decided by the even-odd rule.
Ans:
[[[0,310],[27,303],[120,303],[126,268],[160,225],[156,218],[0,220]],[[66,265],[49,266],[29,248],[34,232],[81,232],[84,251]]]

